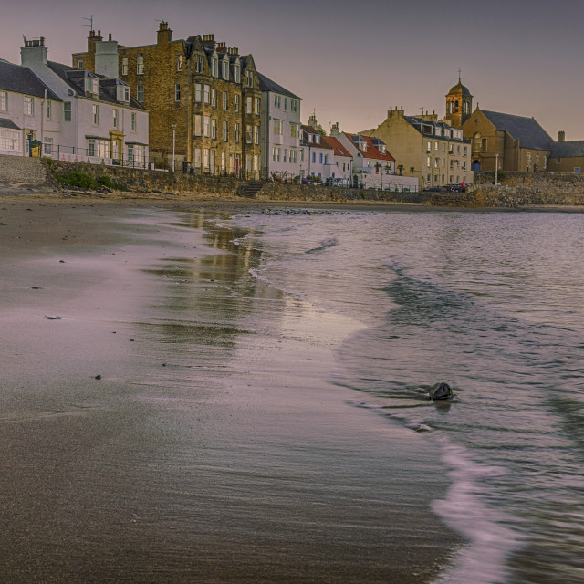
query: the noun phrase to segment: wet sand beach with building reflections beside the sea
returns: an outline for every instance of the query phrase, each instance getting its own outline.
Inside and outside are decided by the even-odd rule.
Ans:
[[[438,449],[328,382],[314,339],[349,324],[249,282],[204,221],[232,203],[0,197],[0,580],[408,584],[453,558]]]

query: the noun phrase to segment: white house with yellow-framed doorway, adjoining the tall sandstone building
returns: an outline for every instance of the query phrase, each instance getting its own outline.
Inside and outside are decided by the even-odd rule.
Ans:
[[[130,96],[130,86],[47,60],[45,39],[25,40],[21,65],[29,68],[60,101],[42,129],[45,153],[60,160],[145,166],[148,112]],[[116,64],[117,65],[117,64]],[[38,134],[38,131],[36,132]]]

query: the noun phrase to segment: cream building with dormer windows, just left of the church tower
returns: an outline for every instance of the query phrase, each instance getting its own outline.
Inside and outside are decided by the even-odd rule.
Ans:
[[[463,130],[438,121],[436,114],[406,116],[403,108],[389,110],[372,137],[381,138],[395,158],[396,168],[418,178],[420,188],[473,182],[471,145]]]

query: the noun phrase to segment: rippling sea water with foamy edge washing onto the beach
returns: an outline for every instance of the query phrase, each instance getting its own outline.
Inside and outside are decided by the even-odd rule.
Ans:
[[[249,276],[359,327],[332,380],[439,444],[433,510],[468,541],[443,584],[584,581],[581,214],[235,216]],[[241,232],[240,232],[241,233]],[[433,402],[438,381],[453,401]]]

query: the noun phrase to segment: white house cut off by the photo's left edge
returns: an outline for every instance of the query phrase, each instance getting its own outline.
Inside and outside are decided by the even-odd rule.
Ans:
[[[62,100],[29,68],[0,59],[0,154],[28,155],[34,140],[50,152],[62,109]]]

